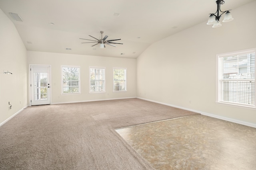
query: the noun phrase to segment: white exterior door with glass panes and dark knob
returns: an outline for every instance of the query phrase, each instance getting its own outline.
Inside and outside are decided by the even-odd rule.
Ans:
[[[31,106],[50,104],[50,66],[31,65]]]

